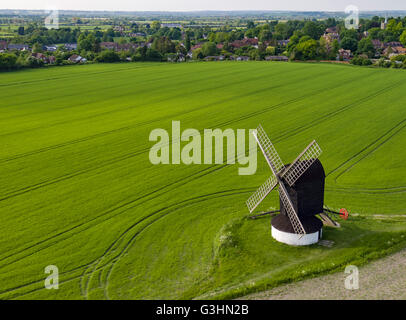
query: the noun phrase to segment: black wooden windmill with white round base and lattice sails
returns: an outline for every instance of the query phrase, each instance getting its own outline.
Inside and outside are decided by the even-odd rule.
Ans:
[[[271,140],[260,125],[254,136],[272,171],[272,175],[247,200],[252,213],[278,188],[280,214],[272,219],[272,236],[291,245],[309,245],[321,239],[323,223],[315,215],[322,213],[325,173],[318,157],[322,153],[312,141],[291,164],[284,165]]]

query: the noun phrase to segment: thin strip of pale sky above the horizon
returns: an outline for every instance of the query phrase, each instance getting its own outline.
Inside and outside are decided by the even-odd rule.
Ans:
[[[348,2],[347,2],[348,1]],[[1,0],[0,9],[56,8],[59,10],[197,11],[290,10],[344,11],[355,5],[360,11],[406,10],[406,0]]]

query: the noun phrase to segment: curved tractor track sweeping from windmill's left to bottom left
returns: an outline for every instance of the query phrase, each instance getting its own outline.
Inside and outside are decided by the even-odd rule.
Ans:
[[[183,208],[185,208],[185,207],[194,205],[194,204],[199,203],[199,202],[204,202],[204,201],[208,201],[208,200],[216,199],[216,198],[221,198],[221,197],[234,196],[234,195],[237,195],[237,194],[245,194],[245,193],[249,193],[249,192],[252,192],[252,189],[251,189],[251,188],[248,188],[248,189],[247,189],[247,188],[245,188],[245,189],[231,189],[231,190],[219,191],[219,192],[215,192],[215,193],[212,193],[212,194],[207,194],[207,195],[202,195],[202,196],[198,196],[198,197],[193,197],[193,198],[190,198],[190,199],[186,199],[186,200],[183,200],[183,201],[181,201],[181,202],[179,202],[179,203],[174,203],[174,204],[172,204],[172,205],[170,205],[170,206],[168,206],[168,207],[164,207],[164,208],[162,208],[162,209],[159,209],[159,210],[157,210],[157,211],[154,211],[154,212],[151,213],[150,215],[148,215],[148,216],[146,216],[146,217],[143,217],[141,220],[137,221],[136,223],[134,223],[133,225],[131,225],[129,228],[127,228],[118,238],[116,238],[116,239],[112,242],[112,244],[110,244],[110,246],[105,250],[104,254],[103,254],[102,256],[100,256],[99,258],[93,260],[92,262],[90,262],[90,263],[88,263],[88,264],[86,264],[86,265],[82,265],[82,266],[80,266],[80,267],[76,267],[76,268],[74,268],[74,269],[72,269],[72,270],[69,270],[69,271],[66,271],[66,272],[60,272],[60,275],[63,275],[63,274],[69,274],[69,273],[72,273],[72,272],[75,272],[75,271],[79,271],[79,270],[81,270],[81,269],[84,269],[84,272],[82,272],[80,275],[76,275],[76,276],[74,276],[74,277],[72,277],[72,278],[68,278],[68,279],[66,279],[66,280],[60,281],[59,284],[62,285],[62,284],[64,284],[64,283],[67,283],[67,282],[70,282],[70,281],[78,280],[78,279],[79,279],[79,287],[80,287],[80,290],[81,290],[82,293],[84,293],[84,297],[86,298],[86,297],[88,296],[89,284],[90,284],[90,281],[91,281],[91,278],[92,278],[94,272],[96,272],[96,271],[102,271],[103,269],[105,269],[105,268],[107,268],[107,267],[109,267],[109,266],[112,266],[111,269],[109,270],[109,273],[108,273],[108,277],[109,277],[109,276],[111,275],[111,272],[112,272],[112,269],[113,269],[114,265],[115,265],[115,264],[120,260],[120,258],[128,251],[128,249],[131,247],[132,243],[135,241],[135,238],[136,238],[142,231],[144,231],[147,227],[151,226],[153,223],[157,222],[158,220],[160,220],[161,218],[167,216],[167,215],[170,214],[170,213],[176,212],[176,211],[178,211],[178,210],[180,210],[180,209],[183,209]],[[168,211],[168,212],[165,212],[165,211]],[[111,260],[109,260],[105,265],[103,265],[103,266],[97,268],[97,266],[99,265],[99,262],[100,262],[107,254],[109,254],[109,253],[111,252],[111,250],[114,248],[115,244],[118,243],[118,241],[123,240],[123,239],[125,238],[125,236],[126,236],[133,228],[135,228],[135,227],[136,227],[137,225],[139,225],[140,223],[142,223],[142,222],[148,220],[149,218],[153,218],[154,216],[156,216],[156,215],[158,215],[158,214],[160,214],[160,213],[162,213],[162,212],[165,212],[165,213],[164,213],[163,215],[160,215],[157,219],[155,219],[155,220],[149,222],[149,223],[146,224],[144,227],[142,227],[139,231],[137,231],[136,234],[134,234],[134,235],[130,238],[130,240],[127,241],[127,243],[125,244],[124,248],[118,253],[118,255],[116,255],[114,258],[112,258]],[[86,280],[86,279],[83,279],[84,276],[86,275],[86,271],[87,271],[89,268],[91,268],[91,267],[93,267],[93,271],[91,272],[91,274],[90,274],[90,276],[89,276],[89,279],[87,279],[87,280]],[[0,296],[6,295],[6,294],[10,294],[10,293],[12,293],[12,292],[21,290],[21,289],[23,289],[23,288],[26,288],[26,287],[29,287],[29,286],[32,286],[32,285],[35,285],[35,284],[42,283],[43,281],[44,281],[43,279],[41,279],[41,280],[36,280],[36,281],[32,281],[32,282],[29,282],[29,283],[20,285],[20,286],[18,286],[18,287],[13,287],[13,288],[10,288],[10,289],[1,291],[1,292],[0,292]],[[100,281],[100,280],[99,280],[99,281]],[[108,278],[106,279],[106,281],[108,282]],[[108,284],[107,282],[106,282],[106,286],[107,286],[107,284]],[[83,288],[83,284],[86,286],[85,288]],[[39,290],[43,290],[43,289],[44,289],[43,287],[41,287],[41,288],[34,288],[34,289],[32,289],[32,290],[29,290],[28,292],[24,292],[24,293],[20,293],[20,294],[17,293],[17,294],[15,294],[15,295],[13,295],[11,298],[8,298],[8,299],[19,298],[19,297],[25,296],[25,295],[27,295],[27,294],[30,294],[30,293],[33,293],[33,292],[36,292],[36,291],[39,291]]]

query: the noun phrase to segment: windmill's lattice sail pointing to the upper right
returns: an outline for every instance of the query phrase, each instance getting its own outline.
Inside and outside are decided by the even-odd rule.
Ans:
[[[307,169],[316,161],[322,153],[321,148],[316,141],[303,150],[303,152],[296,158],[296,160],[286,169],[282,177],[286,182],[293,186],[294,183],[306,172]]]

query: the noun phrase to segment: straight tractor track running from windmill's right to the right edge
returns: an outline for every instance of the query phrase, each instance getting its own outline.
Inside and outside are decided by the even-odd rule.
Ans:
[[[406,118],[400,121],[398,124],[390,128],[388,131],[386,131],[384,134],[379,136],[377,139],[375,139],[373,142],[368,144],[365,148],[357,152],[354,156],[343,162],[340,166],[335,168],[334,170],[330,171],[330,174],[338,171],[339,169],[343,168],[336,176],[334,181],[337,182],[337,180],[344,175],[346,172],[351,170],[355,165],[357,165],[359,162],[364,160],[366,157],[368,157],[370,154],[374,153],[376,150],[378,150],[380,147],[385,145],[388,141],[390,141],[393,137],[395,137],[398,133],[400,133],[404,128],[406,128]],[[394,131],[394,132],[393,132]],[[382,141],[381,141],[382,140]],[[364,151],[366,151],[364,153]],[[356,159],[358,156],[360,158],[356,160],[354,163],[349,165],[348,167],[345,167],[346,164],[348,164],[351,160]],[[328,176],[327,175],[327,176]]]

